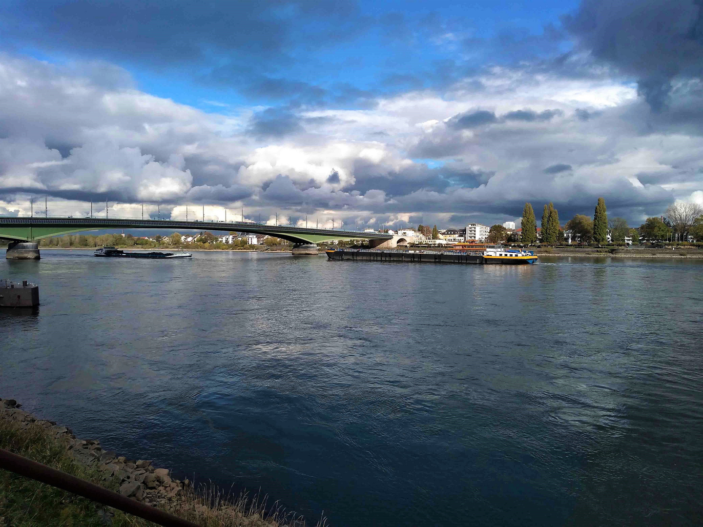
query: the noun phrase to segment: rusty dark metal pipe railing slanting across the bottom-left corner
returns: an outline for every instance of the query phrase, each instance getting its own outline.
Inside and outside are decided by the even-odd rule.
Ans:
[[[148,521],[153,521],[165,527],[200,527],[197,523],[184,520],[156,507],[150,507],[127,496],[108,490],[84,479],[71,476],[60,470],[47,467],[45,464],[28,460],[21,455],[13,454],[0,448],[0,469],[9,470],[20,476],[25,476],[70,493],[87,497],[94,502],[108,507],[120,509],[122,512],[134,514]]]

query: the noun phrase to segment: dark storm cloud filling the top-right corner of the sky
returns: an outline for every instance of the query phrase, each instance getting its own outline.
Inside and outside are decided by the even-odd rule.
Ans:
[[[562,22],[594,58],[636,77],[652,110],[668,103],[675,77],[703,72],[699,0],[583,0]]]

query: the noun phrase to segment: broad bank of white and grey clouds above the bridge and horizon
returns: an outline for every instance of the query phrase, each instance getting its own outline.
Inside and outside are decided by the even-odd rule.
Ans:
[[[109,65],[0,56],[0,71],[0,206],[20,214],[49,195],[70,214],[91,200],[125,213],[143,201],[449,226],[514,219],[525,201],[554,202],[562,218],[591,214],[602,196],[635,222],[703,188],[695,80],[676,82],[659,114],[619,79],[522,65],[369,108],[218,114],[139,91]]]

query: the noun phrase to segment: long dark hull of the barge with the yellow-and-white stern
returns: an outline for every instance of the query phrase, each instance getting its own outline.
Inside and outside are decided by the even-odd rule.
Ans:
[[[520,265],[534,263],[534,259],[516,258],[484,258],[479,254],[452,254],[450,252],[406,252],[406,251],[355,251],[337,249],[326,251],[330,260],[360,260],[360,261],[415,261],[419,263],[477,263],[491,265],[493,263],[508,263]]]

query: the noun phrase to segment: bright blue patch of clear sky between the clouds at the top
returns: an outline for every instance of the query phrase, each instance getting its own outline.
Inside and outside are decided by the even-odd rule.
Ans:
[[[547,45],[540,37],[546,25],[558,26],[560,16],[577,4],[575,0],[470,4],[361,0],[358,9],[351,9],[349,18],[340,22],[338,38],[325,19],[305,19],[283,6],[277,16],[300,17],[300,24],[293,25],[288,44],[276,56],[225,52],[211,43],[190,63],[124,56],[115,56],[112,62],[129,71],[139,89],[206,112],[245,105],[358,108],[367,98],[437,88],[489,63],[564,51],[568,44]],[[316,34],[324,35],[321,41],[316,41]],[[69,58],[27,51],[51,62],[96,58],[89,48],[73,48],[67,52]],[[278,83],[280,89],[260,87],[267,83]]]

